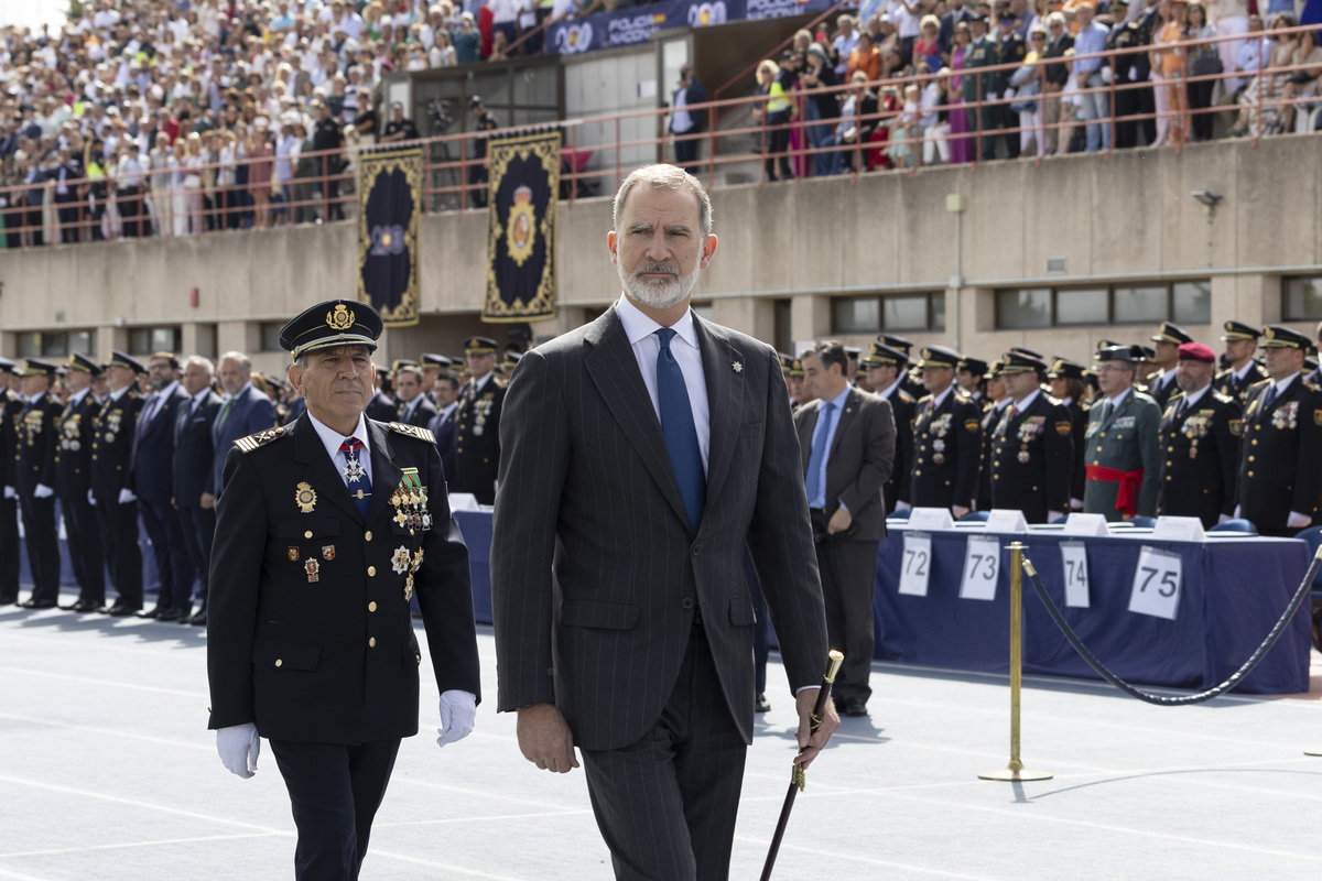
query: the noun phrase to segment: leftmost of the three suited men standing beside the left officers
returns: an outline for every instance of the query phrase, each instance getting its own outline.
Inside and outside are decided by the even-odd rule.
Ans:
[[[175,511],[175,421],[188,403],[178,384],[178,358],[157,351],[147,362],[155,394],[143,403],[134,445],[134,493],[147,538],[156,557],[160,596],[144,618],[177,621],[192,614],[193,579],[197,576]]]

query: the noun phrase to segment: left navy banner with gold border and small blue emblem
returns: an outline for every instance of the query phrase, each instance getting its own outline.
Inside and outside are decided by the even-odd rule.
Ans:
[[[422,149],[358,155],[358,299],[387,328],[418,324]]]

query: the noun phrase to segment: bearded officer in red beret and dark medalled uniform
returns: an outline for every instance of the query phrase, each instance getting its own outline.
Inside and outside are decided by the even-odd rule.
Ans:
[[[1161,419],[1157,512],[1196,516],[1211,528],[1235,511],[1244,408],[1212,388],[1216,354],[1200,342],[1179,347],[1179,394]]]

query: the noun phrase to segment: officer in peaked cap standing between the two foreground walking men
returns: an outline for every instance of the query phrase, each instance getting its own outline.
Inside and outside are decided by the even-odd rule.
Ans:
[[[500,469],[500,412],[509,384],[496,375],[496,341],[469,337],[464,355],[472,380],[459,395],[455,423],[455,482],[452,493],[472,493],[480,505],[496,503]]]

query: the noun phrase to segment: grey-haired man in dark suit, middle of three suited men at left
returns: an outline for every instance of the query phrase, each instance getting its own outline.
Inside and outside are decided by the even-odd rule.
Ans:
[[[197,610],[180,618],[184,623],[206,623],[206,597],[212,568],[212,540],[215,536],[215,505],[204,506],[206,495],[215,498],[212,424],[221,412],[221,396],[212,391],[214,366],[201,355],[184,362],[182,386],[188,400],[175,420],[175,509],[184,534],[184,546],[197,571]],[[181,598],[180,608],[186,605]]]

